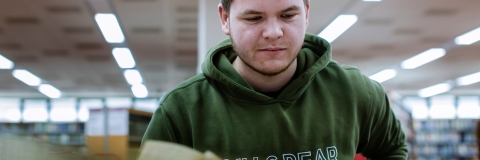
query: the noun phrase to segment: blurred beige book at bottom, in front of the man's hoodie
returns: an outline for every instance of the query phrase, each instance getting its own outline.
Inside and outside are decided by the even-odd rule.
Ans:
[[[138,160],[221,160],[214,153],[201,153],[176,143],[149,140],[140,148]]]

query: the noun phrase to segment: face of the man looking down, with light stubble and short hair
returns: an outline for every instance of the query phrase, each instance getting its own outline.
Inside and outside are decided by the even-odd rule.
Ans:
[[[243,63],[274,76],[285,71],[300,51],[308,25],[303,0],[234,0],[230,13],[219,8],[222,27]]]

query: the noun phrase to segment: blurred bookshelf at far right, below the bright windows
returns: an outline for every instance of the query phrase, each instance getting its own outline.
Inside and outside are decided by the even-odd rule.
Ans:
[[[478,154],[473,119],[414,120],[413,158],[474,159]]]

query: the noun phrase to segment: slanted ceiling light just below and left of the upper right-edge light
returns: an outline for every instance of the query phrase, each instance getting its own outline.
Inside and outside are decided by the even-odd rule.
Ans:
[[[443,48],[432,48],[403,61],[401,65],[403,69],[415,69],[445,56],[445,53],[446,51]]]

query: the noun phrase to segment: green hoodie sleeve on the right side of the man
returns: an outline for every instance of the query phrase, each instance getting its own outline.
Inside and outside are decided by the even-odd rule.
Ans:
[[[369,81],[373,87],[358,151],[370,160],[406,160],[406,136],[400,121],[393,114],[381,85]]]

